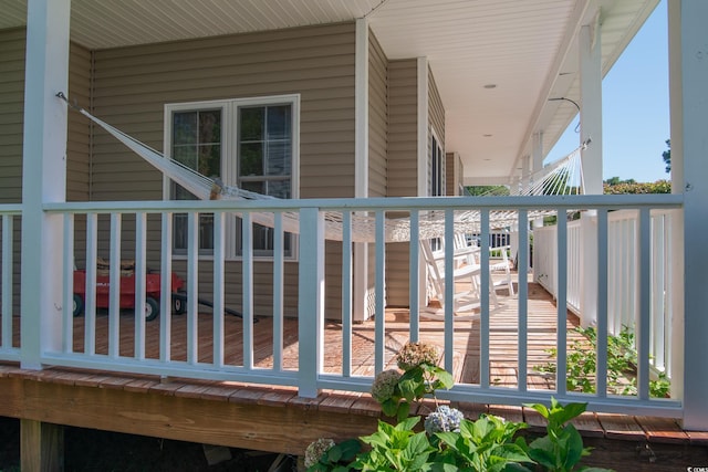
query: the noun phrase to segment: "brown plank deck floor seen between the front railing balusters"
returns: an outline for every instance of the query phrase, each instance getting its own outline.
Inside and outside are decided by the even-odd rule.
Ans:
[[[500,304],[490,317],[490,384],[497,386],[517,386],[519,366],[518,354],[518,313],[517,300],[500,297]],[[549,348],[555,347],[556,339],[556,307],[549,294],[539,285],[531,284],[529,290],[529,325],[528,325],[528,388],[553,389],[553,378],[533,370],[534,365],[541,365],[552,358]],[[187,316],[171,317],[171,358],[187,359]],[[210,313],[198,316],[198,355],[200,363],[211,363],[214,359],[214,318]],[[568,316],[566,327],[571,329],[577,324],[574,315]],[[15,343],[19,343],[19,327],[15,323]],[[399,348],[410,339],[409,314],[405,308],[389,308],[386,311],[385,363],[394,367],[395,355]],[[478,321],[456,321],[454,375],[458,381],[468,384],[479,382],[480,361],[480,329]],[[84,318],[74,319],[74,350],[84,352],[85,331]],[[135,352],[134,314],[122,312],[121,323],[122,356],[132,357]],[[283,369],[298,368],[299,325],[296,318],[285,318],[283,326]],[[256,367],[271,368],[273,366],[273,323],[272,318],[261,317],[253,325],[253,363]],[[431,343],[440,348],[442,355],[444,324],[441,321],[430,321],[425,317],[420,322],[419,339]],[[160,322],[146,323],[145,357],[159,358]],[[226,315],[225,317],[225,364],[241,366],[243,326],[240,318]],[[569,343],[579,335],[568,332]],[[368,321],[353,326],[352,338],[352,374],[355,376],[371,376],[374,373],[374,322]],[[95,353],[108,354],[108,315],[105,312],[96,316]],[[342,373],[342,326],[340,323],[327,322],[324,339],[325,373]]]

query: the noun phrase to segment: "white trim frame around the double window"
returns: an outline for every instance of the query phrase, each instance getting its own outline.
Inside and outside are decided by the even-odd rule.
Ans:
[[[237,136],[238,109],[241,106],[268,106],[274,104],[290,104],[292,106],[292,170],[291,170],[291,196],[296,199],[300,196],[300,94],[270,95],[247,98],[227,98],[198,102],[167,103],[163,113],[163,149],[166,158],[171,158],[173,137],[173,113],[183,111],[195,111],[206,108],[222,109],[222,146],[221,146],[221,175],[227,185],[235,185],[238,180],[238,156]],[[229,159],[229,156],[235,158]],[[163,175],[163,200],[170,200],[171,179]],[[237,255],[235,225],[226,227],[226,260],[240,261],[241,255]],[[171,241],[170,241],[171,244]],[[173,254],[175,260],[186,260],[187,254]],[[212,254],[199,254],[200,260],[214,260]],[[253,255],[253,260],[272,261],[272,255]],[[298,262],[298,235],[293,235],[291,255],[285,256],[285,262]]]

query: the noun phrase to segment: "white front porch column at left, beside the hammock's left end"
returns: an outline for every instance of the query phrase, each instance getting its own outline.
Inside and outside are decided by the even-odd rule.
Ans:
[[[31,369],[61,347],[63,220],[42,204],[66,198],[66,104],[55,95],[67,93],[70,11],[70,0],[28,2],[20,356]]]

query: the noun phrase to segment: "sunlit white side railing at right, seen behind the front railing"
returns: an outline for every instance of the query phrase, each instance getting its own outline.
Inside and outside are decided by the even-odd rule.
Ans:
[[[642,272],[649,276],[649,363],[657,371],[671,376],[670,224],[671,211],[650,211],[650,259],[641,260],[638,210],[618,210],[607,216],[607,329],[620,335],[623,327],[636,334],[641,316]],[[597,218],[591,218],[594,228]],[[558,294],[558,227],[533,231],[534,276],[553,296]],[[581,312],[581,289],[587,281],[581,263],[583,244],[581,221],[568,223],[568,307]],[[678,292],[676,292],[678,293]]]

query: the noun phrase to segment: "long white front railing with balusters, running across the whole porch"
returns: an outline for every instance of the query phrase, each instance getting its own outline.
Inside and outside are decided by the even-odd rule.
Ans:
[[[62,319],[63,328],[55,336],[60,342],[53,343],[61,346],[59,349],[44,349],[41,354],[43,364],[70,366],[77,368],[105,369],[124,373],[136,374],[154,374],[159,376],[173,377],[190,377],[220,380],[239,380],[248,382],[260,382],[269,385],[287,385],[298,386],[300,395],[314,396],[320,389],[340,389],[365,391],[369,388],[372,376],[356,376],[352,374],[352,352],[353,334],[352,334],[352,303],[354,296],[352,293],[352,274],[355,271],[353,266],[352,249],[352,220],[354,212],[369,212],[376,217],[376,242],[372,243],[373,253],[375,254],[375,353],[373,359],[373,371],[384,369],[387,356],[386,353],[386,321],[384,316],[384,281],[385,281],[385,254],[386,243],[384,238],[384,220],[387,212],[394,212],[397,216],[407,213],[410,218],[410,229],[413,239],[417,239],[418,221],[423,218],[424,212],[429,210],[445,210],[445,264],[446,276],[451,279],[454,269],[452,251],[454,251],[454,233],[455,233],[455,212],[476,208],[481,211],[481,240],[486,241],[491,232],[490,216],[497,210],[511,210],[517,212],[519,220],[519,240],[528,241],[529,239],[529,214],[535,210],[552,210],[558,212],[559,218],[558,232],[554,237],[558,250],[551,250],[553,244],[545,241],[548,238],[535,235],[534,251],[537,252],[537,261],[542,259],[546,266],[552,265],[554,271],[549,271],[548,276],[553,276],[558,290],[555,296],[558,298],[558,374],[554,390],[538,390],[529,387],[527,373],[531,370],[528,354],[528,287],[527,284],[519,284],[519,308],[518,308],[518,353],[516,361],[511,361],[518,370],[518,385],[516,387],[497,387],[490,384],[490,319],[493,316],[490,313],[489,291],[485,290],[490,283],[489,272],[489,250],[481,248],[481,313],[479,317],[480,339],[479,339],[479,382],[478,384],[458,384],[449,391],[440,392],[440,397],[473,402],[489,403],[520,403],[527,401],[548,400],[551,396],[556,397],[561,401],[587,401],[591,409],[604,411],[633,411],[643,415],[654,416],[681,416],[681,401],[675,399],[655,399],[648,394],[649,381],[649,363],[653,353],[653,343],[648,336],[638,337],[638,366],[637,366],[637,389],[638,395],[633,397],[614,397],[607,395],[602,389],[595,395],[582,395],[569,392],[565,389],[565,366],[566,366],[566,311],[565,306],[571,298],[569,295],[573,284],[570,283],[573,273],[572,265],[575,262],[569,258],[569,248],[573,248],[574,237],[572,227],[565,221],[564,214],[569,210],[592,209],[597,212],[598,228],[607,228],[607,220],[613,220],[614,216],[610,216],[611,210],[633,209],[639,213],[639,223],[637,224],[637,260],[639,266],[648,266],[653,234],[648,224],[649,211],[665,211],[677,209],[681,206],[681,196],[585,196],[585,197],[502,197],[502,198],[416,198],[416,199],[332,199],[332,200],[263,200],[263,201],[158,201],[158,202],[82,202],[82,203],[52,203],[46,204],[44,211],[64,217],[64,245],[58,248],[64,254],[63,258],[63,280],[58,283],[63,284],[63,310]],[[10,214],[17,214],[17,208],[0,207],[4,221],[9,221]],[[301,234],[299,241],[299,293],[298,293],[298,312],[299,312],[299,344],[298,344],[298,367],[296,369],[284,369],[284,350],[282,342],[283,333],[283,311],[282,303],[284,296],[283,290],[283,265],[282,256],[283,230],[280,224],[280,214],[282,212],[295,212],[300,217]],[[343,274],[343,283],[337,290],[341,291],[343,300],[337,315],[342,318],[342,359],[341,373],[324,371],[323,353],[324,353],[324,319],[325,319],[325,283],[324,283],[324,218],[323,213],[340,212],[342,214],[344,227],[344,241],[341,272]],[[199,280],[199,241],[198,241],[198,214],[214,213],[214,254],[209,256],[214,261],[212,279],[214,291],[210,294],[215,305],[215,313],[221,313],[225,306],[225,265],[226,251],[228,243],[225,234],[228,218],[227,216],[239,212],[243,216],[244,221],[249,220],[252,212],[270,212],[275,216],[274,228],[274,260],[272,264],[272,283],[273,283],[273,323],[271,338],[273,339],[272,367],[257,367],[253,361],[253,353],[256,349],[253,338],[253,266],[254,261],[250,251],[243,251],[241,268],[242,280],[242,316],[243,316],[243,334],[241,343],[241,361],[238,365],[225,361],[225,342],[223,342],[223,317],[214,316],[214,325],[211,328],[211,360],[204,361],[199,358],[199,336],[197,333],[197,298],[198,298],[198,280]],[[164,316],[160,319],[159,358],[147,358],[145,355],[145,318],[144,316],[135,316],[134,324],[134,348],[131,355],[122,354],[118,349],[119,345],[119,324],[118,316],[110,316],[107,336],[108,352],[107,354],[97,354],[95,340],[98,336],[96,333],[96,256],[97,248],[108,249],[111,253],[111,281],[119,277],[118,262],[121,249],[132,247],[135,249],[135,305],[136,313],[144,313],[146,306],[146,274],[147,261],[159,261],[160,272],[168,274],[173,270],[171,253],[171,216],[175,213],[186,213],[190,221],[188,233],[188,251],[186,260],[186,280],[187,280],[187,356],[186,360],[176,360],[170,355],[171,332],[170,316]],[[125,224],[125,222],[129,224]],[[81,224],[77,224],[80,222]],[[83,224],[85,222],[85,230]],[[614,224],[614,222],[613,222]],[[132,227],[132,228],[128,228]],[[81,228],[80,231],[76,228]],[[252,240],[252,228],[250,224],[242,224],[242,241],[244,248],[250,247]],[[3,225],[3,251],[11,253],[12,243],[6,242],[6,233]],[[131,234],[129,241],[125,240],[125,234]],[[123,237],[121,237],[123,234]],[[610,238],[608,232],[598,231],[598,265],[606,266],[608,252],[614,248],[614,240]],[[85,243],[83,242],[85,240]],[[148,241],[150,242],[148,244]],[[543,244],[546,244],[543,245]],[[148,250],[148,247],[152,250]],[[8,249],[6,249],[8,248]],[[74,253],[85,251],[86,266],[86,286],[85,286],[85,328],[82,349],[74,349],[73,339],[73,272],[74,272]],[[2,276],[3,276],[3,314],[7,313],[9,302],[7,302],[6,285],[7,276],[10,273],[8,259],[3,252]],[[418,245],[410,244],[409,252],[409,276],[410,276],[410,321],[409,321],[409,338],[418,339],[419,336],[419,305],[418,294],[423,283],[418,277],[418,264],[421,262],[418,255]],[[525,281],[530,269],[528,261],[528,244],[519,244],[519,280]],[[539,263],[539,265],[541,265]],[[539,268],[534,268],[537,270]],[[607,268],[608,269],[608,268]],[[610,274],[610,271],[608,271]],[[543,275],[543,274],[541,274]],[[39,280],[39,277],[38,277]],[[653,328],[652,316],[648,304],[644,304],[644,300],[648,300],[652,293],[648,279],[637,277],[637,293],[639,303],[638,315],[636,316],[636,329],[639,333],[649,333]],[[112,283],[110,312],[118,310],[117,284]],[[552,285],[553,286],[553,285]],[[41,290],[41,287],[40,287]],[[452,284],[447,284],[446,290],[452,291]],[[171,292],[170,277],[162,279],[162,293]],[[448,293],[452,298],[452,293]],[[601,294],[600,297],[603,295]],[[600,301],[602,302],[602,300]],[[160,310],[163,313],[170,313],[170,300],[163,296],[160,301]],[[606,304],[605,304],[606,305]],[[598,303],[603,306],[603,303]],[[337,317],[339,317],[337,316]],[[610,325],[611,321],[608,310],[600,310],[598,318]],[[21,349],[18,352],[14,347],[10,347],[8,342],[8,332],[11,327],[6,325],[6,316],[3,316],[3,349],[0,350],[0,359],[15,360],[22,358]],[[477,323],[477,322],[475,322]],[[445,306],[445,346],[444,346],[444,366],[448,370],[452,370],[454,365],[454,340],[456,322],[452,313],[452,304]],[[606,377],[607,365],[606,354],[602,350],[606,346],[606,333],[598,334],[598,359],[597,380],[598,385],[603,385]],[[19,353],[19,354],[18,354]]]

